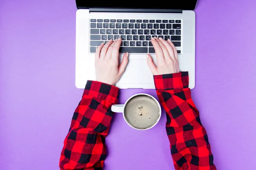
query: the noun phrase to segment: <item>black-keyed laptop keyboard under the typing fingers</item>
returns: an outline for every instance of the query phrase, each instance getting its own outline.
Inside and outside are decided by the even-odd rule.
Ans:
[[[95,53],[102,42],[119,37],[120,53],[155,53],[151,37],[170,39],[176,47],[181,47],[181,24],[181,20],[90,19],[90,53]]]

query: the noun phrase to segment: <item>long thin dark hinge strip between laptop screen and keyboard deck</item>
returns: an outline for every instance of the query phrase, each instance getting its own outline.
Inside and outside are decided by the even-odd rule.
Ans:
[[[182,9],[89,8],[90,12],[182,13]]]

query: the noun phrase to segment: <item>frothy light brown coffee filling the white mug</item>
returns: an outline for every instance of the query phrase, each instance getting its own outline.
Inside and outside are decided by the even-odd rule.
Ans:
[[[127,102],[124,116],[131,126],[137,129],[147,129],[158,121],[160,109],[157,101],[152,97],[138,95]]]

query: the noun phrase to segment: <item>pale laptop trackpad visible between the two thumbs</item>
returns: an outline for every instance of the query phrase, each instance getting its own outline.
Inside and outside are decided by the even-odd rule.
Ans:
[[[122,60],[119,60],[121,62]],[[124,74],[118,83],[121,84],[151,84],[153,75],[148,68],[146,59],[129,59]]]

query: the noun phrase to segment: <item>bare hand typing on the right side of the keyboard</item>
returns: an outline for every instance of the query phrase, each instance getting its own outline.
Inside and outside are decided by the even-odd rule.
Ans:
[[[179,60],[175,45],[168,39],[151,38],[157,56],[157,67],[154,65],[151,55],[147,54],[148,67],[153,75],[172,74],[180,72]]]

